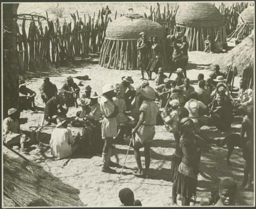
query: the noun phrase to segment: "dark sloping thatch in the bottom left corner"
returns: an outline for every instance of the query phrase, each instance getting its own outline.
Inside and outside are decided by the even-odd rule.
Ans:
[[[77,189],[21,158],[4,154],[3,178],[4,195],[18,206],[83,206]]]

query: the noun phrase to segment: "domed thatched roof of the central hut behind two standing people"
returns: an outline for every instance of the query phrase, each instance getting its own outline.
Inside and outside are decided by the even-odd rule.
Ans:
[[[125,15],[109,23],[106,28],[106,38],[138,39],[140,32],[144,32],[147,37],[164,38],[163,27],[160,24],[145,17],[140,17],[138,14]]]

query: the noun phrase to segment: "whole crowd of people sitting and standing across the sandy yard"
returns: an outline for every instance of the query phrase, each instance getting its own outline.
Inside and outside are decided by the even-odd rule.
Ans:
[[[118,164],[111,160],[113,144],[132,140],[138,166],[138,170],[133,174],[138,177],[150,177],[151,145],[155,136],[155,125],[159,123],[160,116],[166,129],[173,133],[176,142],[170,172],[173,179],[172,203],[177,204],[177,194],[180,194],[182,205],[189,205],[190,198],[196,192],[202,142],[216,143],[202,135],[200,128],[203,125],[213,125],[227,135],[233,114],[238,114],[244,115],[239,143],[246,160],[243,184],[249,187],[252,181],[254,146],[252,89],[247,88],[246,81],[241,79],[238,97],[233,99],[229,92],[230,86],[226,82],[228,75],[220,71],[219,65],[215,65],[209,78],[205,79],[203,74],[198,75],[198,89],[195,90],[190,85],[185,71],[188,43],[185,36],[179,37],[180,34],[167,36],[168,47],[173,50],[169,56],[170,63],[175,66],[170,75],[177,74],[174,80],[170,80],[170,75],[167,77],[163,67],[158,65],[161,63],[161,52],[157,37],[153,37],[151,42],[146,39],[144,33],[140,35],[137,47],[142,82],[137,88],[132,85],[134,81],[131,76],[124,76],[116,84],[105,84],[99,96],[97,92],[92,91],[90,85],[80,89],[71,76],[66,78],[59,91],[48,77],[44,79],[40,87],[41,99],[45,103],[44,120],[48,122],[47,126],[56,124],[50,140],[53,157],[67,158],[79,149],[83,152],[85,146],[81,145],[86,142],[86,147],[90,147],[94,154],[101,154],[101,171],[116,173],[113,168]],[[151,55],[150,49],[153,52]],[[148,62],[149,59],[151,60]],[[156,86],[153,87],[148,80],[152,80],[152,72],[156,71],[156,67],[158,74]],[[144,70],[148,73],[148,80],[144,79]],[[19,93],[20,105],[34,109],[36,93],[25,84],[20,86]],[[69,120],[66,116],[69,107],[73,106],[80,110],[74,115],[75,120],[71,125],[80,124],[83,127],[75,137],[68,128]],[[18,144],[22,151],[25,151],[29,140],[20,131],[18,112],[15,108],[9,109],[9,117],[3,121],[4,142],[9,146]],[[144,148],[144,169],[141,164],[141,148]],[[236,183],[230,179],[221,181],[220,200],[216,205],[234,204],[231,200],[233,196],[227,195],[233,195],[237,187],[234,184]],[[123,192],[132,194],[127,188]],[[120,199],[123,192],[119,193]],[[125,201],[122,201],[124,205]],[[134,198],[131,202],[133,203],[129,205],[135,205]],[[211,201],[208,198],[202,202],[206,204],[205,202]]]

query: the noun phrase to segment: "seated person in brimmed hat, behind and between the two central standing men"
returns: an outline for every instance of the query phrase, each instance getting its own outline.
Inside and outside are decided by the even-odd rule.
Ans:
[[[133,83],[134,81],[131,76],[124,76],[122,77],[121,83],[116,84],[116,86],[118,86],[120,89],[119,97],[125,100],[127,110],[131,108],[131,103],[136,96],[136,90],[131,85]]]

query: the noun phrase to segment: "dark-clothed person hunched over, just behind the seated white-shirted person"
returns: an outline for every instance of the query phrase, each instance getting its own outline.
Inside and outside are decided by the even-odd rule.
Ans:
[[[48,122],[48,125],[51,123],[56,124],[56,118],[61,115],[66,115],[69,108],[63,107],[62,102],[64,101],[63,94],[59,92],[56,93],[50,100],[47,101],[45,106],[45,120]]]

